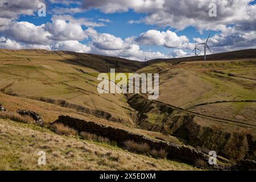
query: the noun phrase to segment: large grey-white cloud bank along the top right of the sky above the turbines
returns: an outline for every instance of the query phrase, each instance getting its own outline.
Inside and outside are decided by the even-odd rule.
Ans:
[[[199,30],[218,30],[219,24],[251,22],[255,20],[255,5],[251,0],[84,0],[85,9],[99,9],[104,13],[126,12],[133,9],[137,13],[145,13],[141,20],[130,23],[144,22],[161,27],[173,27],[183,30],[193,26]],[[210,17],[210,3],[217,6],[217,16]],[[252,25],[252,21],[250,24]],[[255,23],[254,23],[255,24]]]

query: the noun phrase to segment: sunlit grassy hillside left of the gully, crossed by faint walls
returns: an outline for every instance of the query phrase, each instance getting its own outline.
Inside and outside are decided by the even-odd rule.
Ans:
[[[27,98],[67,101],[110,114],[114,121],[133,126],[131,108],[121,94],[98,94],[98,72],[110,68],[131,72],[135,61],[71,52],[43,50],[0,51],[0,90]],[[108,118],[108,119],[109,119]]]

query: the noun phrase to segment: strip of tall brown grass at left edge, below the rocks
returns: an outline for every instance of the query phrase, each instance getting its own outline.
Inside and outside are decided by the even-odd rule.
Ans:
[[[16,122],[20,123],[33,123],[34,119],[26,116],[26,115],[19,115],[18,113],[13,112],[0,112],[0,118],[2,119],[11,119]]]

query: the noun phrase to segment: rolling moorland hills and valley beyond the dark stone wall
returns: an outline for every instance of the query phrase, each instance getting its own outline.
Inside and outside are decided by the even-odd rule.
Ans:
[[[159,73],[158,100],[142,94],[98,94],[97,74],[110,68]],[[206,154],[214,150],[232,162],[255,160],[255,68],[255,49],[209,55],[207,61],[185,57],[146,63],[67,51],[0,49],[0,103],[10,111],[33,110],[47,124],[70,115]]]

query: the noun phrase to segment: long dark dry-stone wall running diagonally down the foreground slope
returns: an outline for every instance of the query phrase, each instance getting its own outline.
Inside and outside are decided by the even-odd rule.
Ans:
[[[191,164],[195,164],[197,160],[201,159],[208,164],[208,155],[187,146],[177,146],[176,144],[149,139],[144,137],[144,135],[138,135],[126,130],[100,125],[98,123],[84,121],[82,119],[64,115],[59,116],[59,119],[52,124],[54,125],[55,123],[63,123],[63,125],[71,127],[79,132],[85,131],[101,135],[102,137],[107,137],[110,140],[116,141],[118,146],[121,147],[123,147],[123,143],[127,140],[134,140],[134,142],[137,143],[147,143],[151,148],[163,148],[167,151],[167,158],[169,159],[181,160]]]

